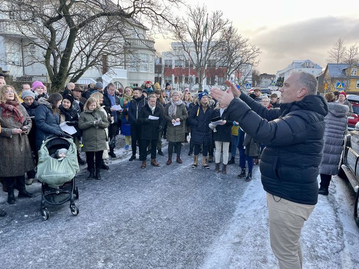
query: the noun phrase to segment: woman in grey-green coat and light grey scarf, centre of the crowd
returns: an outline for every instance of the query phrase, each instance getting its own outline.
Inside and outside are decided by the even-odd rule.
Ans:
[[[186,105],[180,100],[177,91],[172,92],[172,98],[165,108],[163,117],[167,121],[168,160],[166,164],[172,163],[173,147],[176,147],[176,161],[182,163],[181,143],[184,142],[185,138],[185,124],[188,113]]]

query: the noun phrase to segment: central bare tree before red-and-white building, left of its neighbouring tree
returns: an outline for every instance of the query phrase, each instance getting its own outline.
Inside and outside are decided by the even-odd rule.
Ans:
[[[177,41],[172,53],[178,60],[188,62],[198,76],[198,87],[203,88],[206,68],[209,61],[216,61],[215,56],[224,45],[222,32],[229,25],[221,11],[209,15],[205,6],[189,8],[188,17],[182,19],[178,27],[173,27],[174,40]],[[211,62],[213,64],[213,62]]]

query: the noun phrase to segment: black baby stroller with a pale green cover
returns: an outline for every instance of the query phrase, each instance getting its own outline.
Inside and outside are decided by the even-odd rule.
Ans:
[[[64,136],[47,137],[39,150],[37,178],[42,183],[40,212],[44,220],[50,215],[45,203],[57,206],[70,201],[71,213],[77,216],[80,212],[74,199],[74,194],[79,199],[79,187],[75,185],[75,174],[80,170],[77,149],[73,138]],[[56,152],[64,149],[65,156],[56,158]]]

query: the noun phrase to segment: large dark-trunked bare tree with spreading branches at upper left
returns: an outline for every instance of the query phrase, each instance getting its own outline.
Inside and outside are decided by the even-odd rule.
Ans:
[[[121,65],[125,39],[136,29],[133,25],[141,21],[151,29],[166,30],[176,25],[171,7],[181,4],[181,0],[4,2],[0,11],[15,14],[14,23],[26,46],[42,50],[37,60],[46,66],[53,91],[60,91],[68,76],[76,81],[90,67],[106,70]]]

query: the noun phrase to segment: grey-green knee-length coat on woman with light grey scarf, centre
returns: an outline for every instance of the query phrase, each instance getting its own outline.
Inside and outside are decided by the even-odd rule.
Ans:
[[[186,109],[186,105],[182,103],[181,105],[177,106],[176,115],[175,116],[169,116],[168,110],[171,106],[171,103],[169,103],[165,107],[165,114],[164,119],[167,122],[167,141],[168,142],[184,142],[184,135],[185,135],[185,129],[186,129],[186,119],[188,118],[188,113]],[[180,119],[180,125],[173,126],[172,120],[175,120],[179,118]]]

